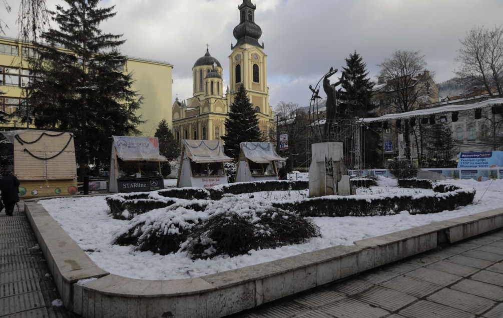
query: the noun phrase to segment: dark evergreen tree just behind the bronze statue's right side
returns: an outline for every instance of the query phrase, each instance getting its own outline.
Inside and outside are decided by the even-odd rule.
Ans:
[[[341,80],[343,91],[340,92],[339,99],[346,103],[348,112],[353,117],[365,117],[372,109],[372,88],[374,84],[370,82],[367,71],[367,64],[356,51],[346,58],[344,78]]]

